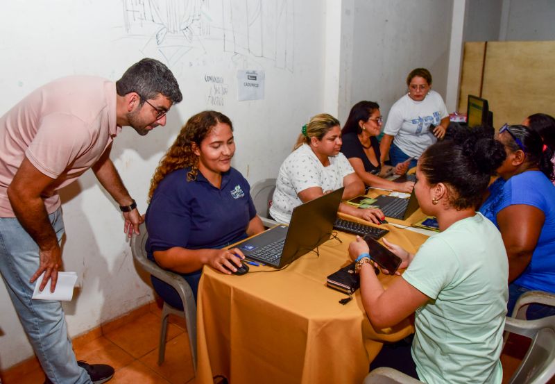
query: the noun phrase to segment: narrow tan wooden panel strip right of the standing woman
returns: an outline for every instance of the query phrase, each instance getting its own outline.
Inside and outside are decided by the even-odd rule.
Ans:
[[[485,42],[466,42],[464,44],[459,108],[457,108],[459,113],[466,113],[469,94],[480,95],[481,67],[484,62],[485,45]]]

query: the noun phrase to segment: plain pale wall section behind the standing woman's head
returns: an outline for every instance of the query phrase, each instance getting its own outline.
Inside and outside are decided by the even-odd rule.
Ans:
[[[355,0],[351,14],[352,87],[339,114],[343,121],[361,100],[377,101],[386,117],[416,67],[429,69],[434,90],[445,99],[452,1]]]

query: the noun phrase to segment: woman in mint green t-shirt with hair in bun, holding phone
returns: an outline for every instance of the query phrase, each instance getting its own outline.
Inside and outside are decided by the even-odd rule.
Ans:
[[[416,197],[425,214],[437,217],[441,232],[416,255],[384,240],[407,268],[401,278],[384,290],[366,258],[366,242],[358,238],[349,247],[375,328],[416,312],[413,375],[425,383],[502,380],[509,267],[499,231],[475,208],[505,153],[485,130],[465,135],[432,145],[418,160]]]

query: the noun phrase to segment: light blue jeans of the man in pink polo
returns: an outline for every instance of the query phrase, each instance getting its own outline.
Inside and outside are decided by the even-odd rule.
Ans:
[[[64,234],[61,208],[49,219],[60,241]],[[60,301],[31,299],[35,283],[29,280],[39,264],[39,248],[33,238],[17,219],[1,217],[0,272],[44,373],[53,383],[91,383],[85,369],[77,365]],[[50,282],[44,289],[50,289]]]

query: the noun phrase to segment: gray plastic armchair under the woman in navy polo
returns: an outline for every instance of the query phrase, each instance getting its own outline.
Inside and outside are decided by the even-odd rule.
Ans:
[[[189,335],[189,348],[191,349],[191,358],[193,360],[193,367],[196,374],[196,303],[193,291],[191,290],[189,283],[187,283],[184,278],[178,274],[162,269],[155,262],[148,260],[146,257],[146,250],[144,248],[146,239],[148,239],[148,233],[146,233],[146,226],[144,223],[139,226],[139,231],[141,232],[140,235],[133,235],[131,238],[131,253],[133,254],[133,258],[145,272],[148,272],[148,274],[160,278],[160,280],[164,281],[164,283],[171,285],[178,292],[183,303],[183,308],[185,308],[185,310],[179,310],[164,301],[164,306],[162,307],[162,327],[160,328],[158,365],[162,364],[166,353],[168,316],[171,314],[178,315],[185,317],[187,334]]]

